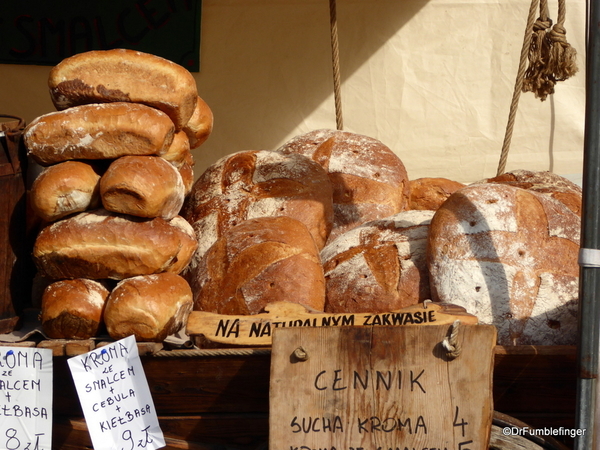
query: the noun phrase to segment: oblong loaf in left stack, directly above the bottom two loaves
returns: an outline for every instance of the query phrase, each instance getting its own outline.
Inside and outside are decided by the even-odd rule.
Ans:
[[[44,227],[34,243],[38,270],[51,279],[121,280],[164,272],[181,251],[182,233],[160,217],[82,212]]]

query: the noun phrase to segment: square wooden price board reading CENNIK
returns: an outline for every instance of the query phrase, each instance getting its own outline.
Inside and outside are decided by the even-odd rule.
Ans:
[[[487,450],[496,329],[449,328],[277,329],[270,450]]]

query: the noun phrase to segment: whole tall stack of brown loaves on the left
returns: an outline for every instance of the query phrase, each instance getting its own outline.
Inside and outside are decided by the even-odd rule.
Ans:
[[[104,324],[115,339],[162,341],[192,308],[179,274],[198,243],[179,213],[212,113],[185,68],[131,50],[67,58],[49,87],[58,111],[24,132],[44,167],[30,190],[33,258],[50,280],[43,329],[84,339]]]

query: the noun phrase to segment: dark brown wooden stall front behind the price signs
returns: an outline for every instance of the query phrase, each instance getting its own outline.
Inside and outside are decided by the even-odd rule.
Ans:
[[[264,449],[268,442],[268,350],[140,354],[167,449]],[[67,366],[54,358],[54,447],[91,441]],[[532,427],[574,427],[576,348],[495,348],[494,409]],[[568,442],[567,442],[568,444]]]

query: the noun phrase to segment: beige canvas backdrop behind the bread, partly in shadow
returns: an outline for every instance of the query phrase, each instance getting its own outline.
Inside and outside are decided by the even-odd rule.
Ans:
[[[556,19],[557,1],[549,0]],[[344,129],[383,141],[411,178],[494,176],[529,0],[337,0]],[[585,2],[567,1],[580,72],[545,102],[520,97],[507,170],[578,180]],[[212,108],[196,176],[220,157],[335,128],[328,0],[204,0],[199,94]],[[0,65],[0,111],[53,111],[50,68]]]

